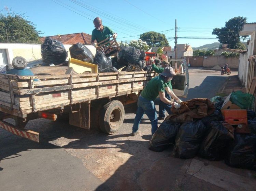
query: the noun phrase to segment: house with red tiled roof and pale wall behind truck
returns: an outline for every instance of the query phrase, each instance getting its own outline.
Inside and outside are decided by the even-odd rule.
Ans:
[[[87,48],[95,55],[96,49],[90,45],[91,35],[86,33],[74,33],[67,35],[50,36],[64,45],[68,51],[68,58],[70,57],[69,48],[80,42],[86,45]],[[45,37],[41,37],[40,41],[43,43]],[[41,44],[14,44],[14,43],[0,43],[0,66],[12,63],[12,59],[16,56],[22,56],[26,60],[41,59]]]

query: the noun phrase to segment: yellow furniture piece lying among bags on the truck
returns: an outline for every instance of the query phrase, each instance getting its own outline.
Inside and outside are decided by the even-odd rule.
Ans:
[[[69,67],[72,67],[73,70],[79,74],[82,74],[84,72],[98,73],[98,65],[83,62],[74,58],[69,59]]]

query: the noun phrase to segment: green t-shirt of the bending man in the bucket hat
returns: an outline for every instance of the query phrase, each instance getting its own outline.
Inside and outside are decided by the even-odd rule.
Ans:
[[[163,77],[156,76],[147,83],[141,92],[141,96],[147,100],[155,100],[159,95],[158,92],[165,92],[166,87],[167,84],[163,81]]]

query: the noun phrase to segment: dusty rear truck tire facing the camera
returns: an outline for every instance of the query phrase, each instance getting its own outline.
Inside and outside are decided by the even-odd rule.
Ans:
[[[124,105],[118,100],[103,105],[99,115],[101,131],[107,134],[116,133],[124,122],[124,115]]]

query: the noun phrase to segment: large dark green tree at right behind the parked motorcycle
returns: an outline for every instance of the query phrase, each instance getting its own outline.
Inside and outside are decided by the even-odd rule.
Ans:
[[[246,23],[246,19],[246,17],[231,18],[225,23],[225,27],[213,29],[212,34],[217,35],[221,44],[227,44],[228,48],[235,49],[240,43],[239,32],[242,30],[243,24]],[[243,38],[246,37],[243,36]]]

